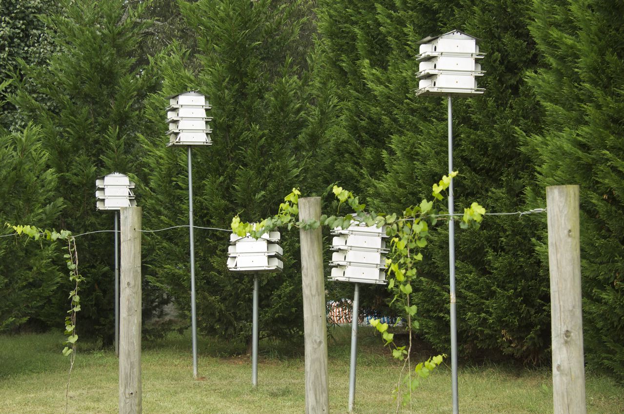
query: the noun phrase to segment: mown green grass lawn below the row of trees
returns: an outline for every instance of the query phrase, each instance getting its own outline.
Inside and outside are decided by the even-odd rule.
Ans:
[[[391,392],[397,364],[379,346],[379,338],[361,328],[356,413],[394,413]],[[329,405],[346,413],[349,387],[349,329],[329,341]],[[60,334],[0,336],[0,413],[63,413],[68,359],[61,355]],[[81,344],[72,373],[70,413],[116,413],[118,360],[111,350]],[[251,388],[251,364],[236,355],[243,346],[200,339],[199,373],[192,379],[188,336],[144,342],[142,352],[144,413],[268,414],[304,412],[303,352],[263,341],[258,388]],[[624,392],[613,380],[587,375],[587,412],[624,413]],[[552,382],[545,369],[460,367],[462,413],[552,413]],[[409,410],[401,410],[406,413]],[[416,391],[414,413],[451,413],[451,371],[434,372]]]

